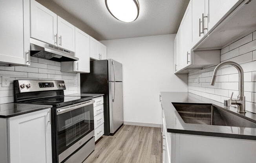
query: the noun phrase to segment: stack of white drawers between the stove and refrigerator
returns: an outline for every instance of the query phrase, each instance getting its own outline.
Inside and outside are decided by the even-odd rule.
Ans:
[[[94,136],[97,141],[104,134],[104,101],[103,96],[93,98],[93,113],[94,113]]]

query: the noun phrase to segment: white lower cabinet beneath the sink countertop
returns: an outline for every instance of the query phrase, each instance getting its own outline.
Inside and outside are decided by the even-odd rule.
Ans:
[[[163,163],[255,163],[255,140],[170,133],[162,115]]]

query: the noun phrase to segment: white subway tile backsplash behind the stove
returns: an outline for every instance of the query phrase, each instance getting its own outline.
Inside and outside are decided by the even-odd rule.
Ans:
[[[31,57],[29,66],[0,66],[0,104],[14,102],[13,80],[64,80],[66,83],[65,94],[78,92],[78,76],[75,73],[61,72],[60,62]],[[39,62],[39,63],[38,63]],[[2,76],[9,76],[10,87],[2,87]],[[198,85],[197,85],[198,86]],[[200,85],[201,86],[201,85]],[[198,92],[205,88],[196,87]]]

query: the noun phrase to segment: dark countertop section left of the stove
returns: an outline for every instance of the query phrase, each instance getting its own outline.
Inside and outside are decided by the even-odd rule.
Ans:
[[[24,104],[24,103],[5,103],[0,104],[0,118],[9,118],[26,114],[29,112],[35,112],[38,110],[51,108],[51,105],[35,105],[35,104]]]

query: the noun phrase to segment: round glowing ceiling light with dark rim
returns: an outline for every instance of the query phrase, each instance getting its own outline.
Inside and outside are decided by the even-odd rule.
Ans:
[[[139,16],[137,0],[105,0],[110,14],[122,22],[133,22]]]

